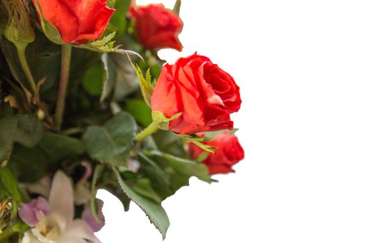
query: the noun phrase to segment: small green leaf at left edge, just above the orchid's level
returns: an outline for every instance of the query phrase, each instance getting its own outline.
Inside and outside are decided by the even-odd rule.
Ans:
[[[17,203],[22,201],[17,178],[15,178],[10,169],[0,167],[0,203],[8,198],[14,199]]]

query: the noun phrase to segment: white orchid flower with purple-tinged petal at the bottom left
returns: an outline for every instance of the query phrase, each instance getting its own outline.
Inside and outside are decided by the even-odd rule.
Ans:
[[[70,178],[58,171],[48,202],[38,197],[22,203],[19,216],[31,226],[22,243],[100,243],[85,221],[74,219],[74,196]]]

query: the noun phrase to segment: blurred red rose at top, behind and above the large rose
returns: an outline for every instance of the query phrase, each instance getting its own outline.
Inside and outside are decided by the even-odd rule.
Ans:
[[[172,48],[181,51],[177,37],[183,22],[175,12],[162,4],[149,4],[129,8],[129,14],[136,19],[138,40],[146,49]]]

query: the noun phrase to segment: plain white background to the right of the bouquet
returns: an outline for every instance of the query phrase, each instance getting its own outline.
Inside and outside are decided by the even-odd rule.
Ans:
[[[184,51],[161,56],[198,51],[234,76],[246,158],[220,183],[192,179],[163,202],[165,243],[365,242],[364,10],[352,0],[183,0]],[[98,196],[103,243],[162,242],[134,204],[124,213]]]

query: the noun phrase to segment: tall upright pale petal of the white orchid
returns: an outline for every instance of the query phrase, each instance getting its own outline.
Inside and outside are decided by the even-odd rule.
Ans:
[[[66,221],[74,217],[74,192],[70,178],[62,171],[57,171],[49,192],[49,206],[52,211],[63,215]]]

